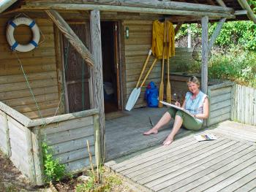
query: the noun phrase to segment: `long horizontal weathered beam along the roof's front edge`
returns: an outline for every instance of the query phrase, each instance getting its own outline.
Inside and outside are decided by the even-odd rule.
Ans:
[[[58,1],[54,1],[58,4]],[[74,4],[74,1],[59,1],[61,4],[68,4],[70,5],[97,5],[94,7],[95,9],[98,8],[102,10],[102,6],[109,5],[109,6],[117,6],[117,7],[138,7],[138,8],[152,8],[152,9],[173,9],[173,10],[184,10],[184,11],[199,11],[199,12],[219,12],[219,13],[233,13],[233,8],[230,7],[220,7],[220,6],[213,6],[208,4],[192,4],[186,2],[177,2],[177,1],[169,1],[169,0],[83,0],[80,3]],[[42,4],[47,4],[45,1],[36,1],[27,3],[28,6],[41,6]],[[48,4],[54,4],[53,2]],[[125,10],[125,9],[124,9]]]

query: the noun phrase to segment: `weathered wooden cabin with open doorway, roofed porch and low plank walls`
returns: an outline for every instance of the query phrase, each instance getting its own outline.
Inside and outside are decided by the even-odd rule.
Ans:
[[[222,24],[249,19],[256,23],[246,0],[4,0],[0,12],[0,147],[37,185],[43,183],[43,139],[72,172],[89,165],[88,154],[81,154],[86,150],[86,139],[98,163],[106,157],[105,114],[124,110],[151,47],[154,20],[167,17],[176,25],[176,32],[183,23],[202,24],[204,92],[211,89],[207,77],[208,50]],[[7,42],[10,20],[20,17],[35,20],[39,28],[38,46],[28,52],[12,51]],[[208,22],[219,22],[211,39]],[[15,28],[14,37],[20,45],[27,45],[33,34],[29,26],[20,25]],[[149,66],[153,59],[151,56]],[[191,50],[176,47],[170,71],[182,72],[182,64],[189,62]],[[146,106],[145,86],[151,80],[159,85],[160,72],[158,61],[135,108]],[[230,92],[231,85],[214,85],[212,90],[223,91],[227,87],[226,92]],[[231,93],[227,100],[225,107],[231,105]],[[228,112],[225,118],[230,118]],[[214,118],[208,125],[224,119],[218,115]]]

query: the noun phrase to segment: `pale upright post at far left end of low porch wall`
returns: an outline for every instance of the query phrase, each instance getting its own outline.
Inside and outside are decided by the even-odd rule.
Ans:
[[[9,126],[8,126],[8,118],[7,114],[5,112],[0,111],[0,115],[3,118],[3,124],[1,125],[3,127],[3,131],[5,133],[5,141],[6,141],[6,148],[4,150],[5,155],[7,155],[8,158],[12,155],[12,149],[11,149],[11,143],[10,143],[10,133],[9,133]],[[1,146],[0,146],[1,147]]]

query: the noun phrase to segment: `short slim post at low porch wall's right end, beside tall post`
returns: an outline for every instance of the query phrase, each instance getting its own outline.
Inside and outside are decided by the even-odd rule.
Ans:
[[[95,159],[97,165],[103,162],[100,149],[100,135],[99,135],[99,115],[94,115],[94,143],[95,143]]]

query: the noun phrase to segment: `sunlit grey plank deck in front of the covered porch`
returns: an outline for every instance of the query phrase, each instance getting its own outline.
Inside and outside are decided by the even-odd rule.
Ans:
[[[256,127],[225,121],[203,133],[218,139],[197,142],[192,133],[106,166],[140,191],[256,191]]]

